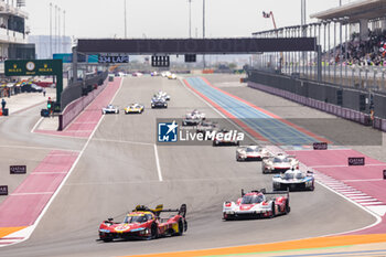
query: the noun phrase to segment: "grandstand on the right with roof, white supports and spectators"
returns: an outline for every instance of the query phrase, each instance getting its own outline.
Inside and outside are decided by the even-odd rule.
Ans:
[[[321,79],[385,90],[386,0],[360,0],[313,13],[318,22],[253,33],[256,38],[312,36],[321,45]],[[318,79],[318,53],[265,53],[254,67]]]

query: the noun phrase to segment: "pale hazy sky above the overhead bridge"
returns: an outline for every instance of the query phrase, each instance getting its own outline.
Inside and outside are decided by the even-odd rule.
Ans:
[[[128,38],[185,38],[189,35],[189,0],[126,0]],[[125,0],[26,0],[31,34],[50,34],[50,2],[66,11],[66,35],[124,38]],[[308,0],[307,12],[339,6],[339,0]],[[349,0],[343,0],[343,3]],[[192,0],[192,36],[202,36],[203,0]],[[250,36],[270,30],[262,11],[272,11],[278,26],[300,23],[300,0],[206,0],[206,36]],[[55,9],[53,8],[53,33]],[[63,13],[61,13],[63,34]]]

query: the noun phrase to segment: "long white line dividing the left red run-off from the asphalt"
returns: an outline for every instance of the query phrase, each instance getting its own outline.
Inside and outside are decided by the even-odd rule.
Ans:
[[[114,95],[111,101],[115,99],[115,97],[117,96],[118,92],[120,90],[120,88],[121,88],[121,86],[122,86],[122,83],[124,83],[124,78],[121,79],[120,85],[119,85],[119,88],[118,88],[118,90],[116,92],[116,94]],[[99,96],[99,95],[98,95],[98,96]],[[98,97],[98,96],[97,96],[97,97]],[[28,239],[31,237],[32,233],[34,232],[34,229],[36,228],[36,226],[39,225],[39,223],[40,223],[41,219],[43,218],[44,214],[47,212],[50,205],[54,202],[56,195],[61,192],[61,189],[63,188],[63,185],[64,185],[64,184],[66,183],[66,181],[68,180],[69,175],[71,175],[71,174],[73,173],[73,171],[75,170],[76,164],[79,162],[79,160],[81,160],[83,153],[85,152],[86,148],[88,147],[89,142],[92,141],[92,139],[93,139],[93,137],[94,137],[96,130],[98,129],[100,122],[104,120],[104,117],[105,117],[105,116],[101,116],[101,117],[100,117],[100,119],[99,119],[97,126],[94,128],[94,130],[93,130],[92,135],[88,137],[88,139],[87,139],[85,146],[82,148],[82,150],[81,150],[79,154],[77,156],[75,162],[73,163],[73,165],[72,165],[71,169],[69,169],[69,171],[67,172],[67,175],[63,179],[62,183],[61,183],[60,186],[56,189],[55,193],[51,196],[49,203],[45,205],[45,207],[43,208],[42,213],[39,215],[39,217],[37,217],[36,221],[34,222],[34,224],[31,225],[31,226],[29,226],[29,227],[26,227],[26,228],[24,228],[24,229],[22,229],[22,231],[19,231],[19,232],[15,233],[17,235],[22,235],[22,237],[24,237],[24,239],[22,239],[22,240],[20,240],[20,242],[15,242],[15,243],[12,244],[12,245],[15,245],[15,244],[22,243],[22,242],[24,242],[24,240],[28,240]],[[12,235],[13,235],[13,234],[11,234],[11,235],[9,235],[9,236],[12,236]]]

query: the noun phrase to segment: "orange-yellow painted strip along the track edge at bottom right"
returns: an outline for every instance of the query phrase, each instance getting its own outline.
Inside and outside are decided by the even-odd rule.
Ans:
[[[336,246],[364,245],[373,243],[385,243],[386,234],[374,235],[350,235],[350,236],[329,236],[315,237],[300,240],[288,240],[280,243],[236,246],[226,248],[189,250],[189,251],[173,251],[151,255],[131,255],[130,257],[203,257],[215,255],[239,255],[239,254],[258,254],[267,251],[281,251],[294,249],[311,249],[325,248]],[[129,256],[127,256],[129,257]]]

